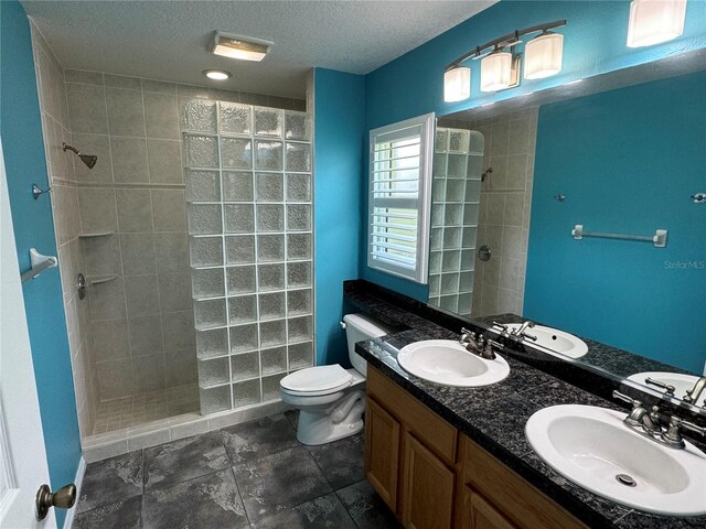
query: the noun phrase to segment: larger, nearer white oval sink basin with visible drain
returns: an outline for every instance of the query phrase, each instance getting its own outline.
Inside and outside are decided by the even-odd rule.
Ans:
[[[684,450],[662,446],[624,418],[606,408],[553,406],[532,415],[525,433],[545,463],[599,496],[660,515],[706,514],[706,454],[688,442]]]

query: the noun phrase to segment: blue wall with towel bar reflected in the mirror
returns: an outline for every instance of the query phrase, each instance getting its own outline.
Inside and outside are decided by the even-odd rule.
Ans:
[[[689,196],[706,182],[704,86],[700,72],[539,108],[525,316],[702,371],[706,209]],[[667,246],[576,241],[576,224],[668,229]]]

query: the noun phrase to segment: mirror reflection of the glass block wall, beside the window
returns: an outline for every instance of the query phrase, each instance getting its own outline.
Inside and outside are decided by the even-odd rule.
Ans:
[[[431,185],[429,303],[470,316],[484,140],[437,127]]]

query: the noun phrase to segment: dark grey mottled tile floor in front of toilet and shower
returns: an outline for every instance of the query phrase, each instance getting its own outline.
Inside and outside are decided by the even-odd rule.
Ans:
[[[90,463],[75,529],[402,527],[364,479],[362,434],[297,441],[297,412]]]

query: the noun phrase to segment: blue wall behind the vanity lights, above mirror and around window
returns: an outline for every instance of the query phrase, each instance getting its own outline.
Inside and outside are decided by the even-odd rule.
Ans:
[[[656,46],[627,47],[628,17],[628,0],[502,1],[368,74],[365,77],[365,130],[431,111],[440,116],[472,108],[706,47],[706,2],[688,2],[684,34]],[[471,98],[456,104],[443,102],[443,68],[448,63],[515,29],[560,19],[566,19],[568,24],[560,30],[565,41],[564,71],[559,75],[542,80],[523,80],[517,88],[481,95],[480,62],[469,61],[466,65],[472,69]],[[362,217],[365,218],[366,214],[367,195],[364,195]],[[426,288],[368,269],[363,260],[365,246],[366,240],[361,240],[361,273],[364,279],[418,300],[427,300]]]

